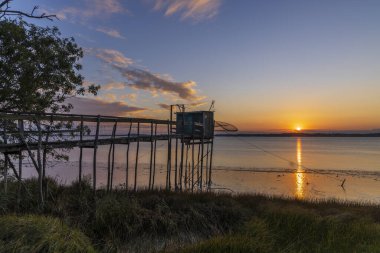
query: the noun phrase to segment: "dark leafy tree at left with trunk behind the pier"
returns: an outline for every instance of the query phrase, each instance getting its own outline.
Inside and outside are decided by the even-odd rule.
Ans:
[[[69,112],[73,106],[66,102],[67,98],[86,93],[96,95],[99,86],[83,86],[84,78],[79,74],[82,68],[79,60],[82,57],[83,51],[75,40],[61,38],[56,27],[39,27],[21,19],[0,20],[0,109],[35,113]],[[0,143],[37,140],[40,144],[42,131],[70,129],[72,124],[35,120],[28,126],[39,134],[4,136]],[[0,120],[0,128],[9,132],[17,129],[17,126],[12,121]],[[28,152],[39,175],[40,198],[43,202],[42,181],[46,156],[62,158],[62,155],[48,147],[39,147],[36,154],[30,150]],[[5,163],[11,163],[7,155],[4,158]]]

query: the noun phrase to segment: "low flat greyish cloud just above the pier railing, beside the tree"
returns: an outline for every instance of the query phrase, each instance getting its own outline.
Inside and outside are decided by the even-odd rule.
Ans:
[[[72,113],[126,116],[130,113],[143,112],[146,108],[129,106],[124,102],[106,102],[100,99],[72,97],[67,102],[73,104]]]

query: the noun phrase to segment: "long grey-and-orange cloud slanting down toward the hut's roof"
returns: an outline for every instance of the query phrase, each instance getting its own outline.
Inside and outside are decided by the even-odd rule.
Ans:
[[[110,49],[91,49],[99,59],[108,63],[117,70],[124,78],[125,85],[134,89],[150,91],[153,95],[170,94],[189,101],[199,101],[204,97],[198,95],[196,82],[175,82],[167,75],[152,73],[148,70],[132,66],[133,60],[125,57],[121,52]],[[115,84],[106,88],[115,88]],[[120,87],[120,84],[118,84]]]

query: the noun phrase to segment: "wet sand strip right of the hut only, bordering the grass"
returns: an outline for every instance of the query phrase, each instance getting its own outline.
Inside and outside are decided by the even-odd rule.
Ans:
[[[319,173],[216,168],[213,181],[217,187],[237,193],[380,203],[380,175],[372,172]]]

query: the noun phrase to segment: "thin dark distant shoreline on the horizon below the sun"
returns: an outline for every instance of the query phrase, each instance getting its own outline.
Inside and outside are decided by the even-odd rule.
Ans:
[[[380,137],[380,133],[268,133],[215,134],[217,137]]]

